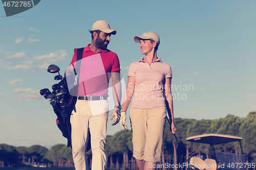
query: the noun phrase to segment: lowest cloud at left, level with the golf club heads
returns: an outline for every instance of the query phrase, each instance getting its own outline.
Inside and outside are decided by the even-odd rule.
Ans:
[[[41,96],[39,94],[39,90],[33,90],[31,88],[17,88],[12,91],[13,93],[22,95],[23,97],[27,98],[27,100],[37,100],[40,99]]]

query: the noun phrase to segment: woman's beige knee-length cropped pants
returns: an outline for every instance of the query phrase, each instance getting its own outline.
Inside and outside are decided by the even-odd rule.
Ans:
[[[166,109],[130,109],[133,132],[133,156],[136,159],[160,161]]]

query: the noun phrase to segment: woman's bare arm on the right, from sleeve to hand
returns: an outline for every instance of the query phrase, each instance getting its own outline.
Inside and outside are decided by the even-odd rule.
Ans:
[[[170,119],[172,119],[172,126],[170,127],[172,133],[175,133],[176,126],[174,124],[174,107],[173,107],[173,96],[172,91],[170,90],[170,84],[172,82],[172,78],[165,78],[164,91],[165,91],[165,104],[167,113]]]

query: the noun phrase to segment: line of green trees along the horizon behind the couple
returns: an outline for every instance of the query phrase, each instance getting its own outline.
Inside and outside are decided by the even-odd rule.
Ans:
[[[233,136],[241,136],[243,151],[247,163],[255,163],[256,156],[256,112],[250,112],[246,117],[238,117],[228,114],[224,118],[214,120],[196,120],[187,118],[175,118],[177,127],[176,136],[179,139],[179,149],[175,149],[175,137],[169,130],[166,122],[161,161],[158,164],[182,164],[187,163],[190,156],[190,142],[187,137],[217,133]],[[192,155],[207,158],[209,146],[194,143]],[[240,153],[239,142],[216,145],[216,150],[229,153]],[[138,169],[133,158],[132,131],[121,130],[114,135],[106,136],[106,167],[110,169]],[[40,145],[31,147],[14,147],[8,144],[0,144],[1,166],[41,166],[41,167],[74,167],[71,148],[65,144],[56,144],[50,150]],[[92,152],[87,152],[89,167],[92,163]],[[165,170],[172,168],[163,168]],[[179,168],[180,169],[180,168]],[[177,168],[174,168],[177,170]],[[181,170],[181,169],[180,169]],[[186,170],[186,169],[182,169]],[[252,169],[251,169],[252,170]],[[254,168],[255,170],[255,168]]]

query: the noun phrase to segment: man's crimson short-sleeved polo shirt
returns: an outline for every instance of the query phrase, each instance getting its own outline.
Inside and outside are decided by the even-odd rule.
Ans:
[[[120,70],[119,59],[116,53],[108,49],[94,53],[89,45],[83,49],[81,62],[77,62],[80,64],[80,71],[76,70],[79,76],[78,95],[108,96],[111,72]],[[74,50],[70,66],[76,66],[76,56],[77,48]],[[72,67],[67,69],[70,68]]]

